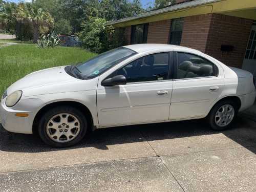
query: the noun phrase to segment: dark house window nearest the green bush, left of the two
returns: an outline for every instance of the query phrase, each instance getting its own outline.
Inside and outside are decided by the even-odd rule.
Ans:
[[[148,24],[132,26],[131,44],[146,44]]]

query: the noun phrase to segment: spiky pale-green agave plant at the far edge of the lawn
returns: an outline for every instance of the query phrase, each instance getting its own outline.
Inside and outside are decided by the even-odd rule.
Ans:
[[[42,35],[41,38],[37,40],[37,47],[40,49],[54,48],[60,45],[60,43],[58,34],[52,32],[48,35]]]

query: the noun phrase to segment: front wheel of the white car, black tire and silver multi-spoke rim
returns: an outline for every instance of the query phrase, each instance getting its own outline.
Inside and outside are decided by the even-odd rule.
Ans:
[[[72,106],[57,106],[40,119],[38,133],[42,141],[53,147],[68,147],[86,135],[87,119]]]

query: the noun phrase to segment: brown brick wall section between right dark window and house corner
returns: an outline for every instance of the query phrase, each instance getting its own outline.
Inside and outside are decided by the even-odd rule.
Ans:
[[[211,14],[185,17],[181,46],[204,52],[210,24]]]

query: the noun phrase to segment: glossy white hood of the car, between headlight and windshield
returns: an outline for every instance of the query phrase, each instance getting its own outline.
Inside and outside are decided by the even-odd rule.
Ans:
[[[55,67],[30,73],[13,83],[7,90],[11,94],[17,90],[26,90],[36,87],[49,86],[55,83],[77,81],[78,79],[66,73],[65,67]]]

